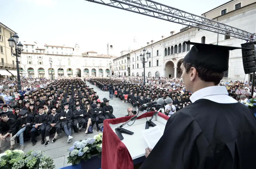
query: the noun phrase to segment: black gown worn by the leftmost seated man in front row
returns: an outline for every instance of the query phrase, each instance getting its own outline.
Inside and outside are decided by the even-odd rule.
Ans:
[[[16,120],[9,118],[8,121],[0,121],[0,133],[2,136],[6,133],[12,133],[12,136],[16,134]]]

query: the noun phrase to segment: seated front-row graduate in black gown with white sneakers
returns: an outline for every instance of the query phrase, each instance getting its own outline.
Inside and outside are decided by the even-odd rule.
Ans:
[[[68,103],[63,103],[63,106],[64,110],[60,112],[61,129],[64,130],[68,137],[67,142],[70,142],[70,140],[73,138],[71,136],[73,127],[73,112],[72,110],[68,109]]]

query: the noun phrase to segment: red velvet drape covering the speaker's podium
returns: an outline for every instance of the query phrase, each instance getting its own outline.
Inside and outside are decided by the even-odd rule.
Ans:
[[[137,119],[151,117],[154,112],[142,114]],[[168,116],[159,113],[158,116],[168,120]],[[116,133],[111,129],[109,124],[124,123],[131,119],[132,116],[125,116],[116,119],[106,119],[103,121],[103,137],[102,137],[102,169],[133,169],[132,157],[124,145],[118,138]],[[146,122],[146,121],[145,121]],[[146,148],[146,147],[145,147]]]

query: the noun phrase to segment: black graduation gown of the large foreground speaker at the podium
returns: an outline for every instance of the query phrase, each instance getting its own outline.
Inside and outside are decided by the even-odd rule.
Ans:
[[[253,168],[255,143],[256,119],[250,109],[239,102],[199,99],[168,119],[140,169]]]

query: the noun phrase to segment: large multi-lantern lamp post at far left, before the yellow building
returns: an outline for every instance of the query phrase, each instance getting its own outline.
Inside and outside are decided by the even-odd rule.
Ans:
[[[17,34],[14,34],[11,38],[8,39],[9,46],[11,48],[15,47],[15,53],[12,51],[12,55],[16,56],[16,68],[17,68],[17,77],[18,77],[18,90],[21,91],[21,84],[20,84],[20,69],[19,69],[19,61],[18,57],[20,57],[20,54],[23,50],[23,45],[19,42],[19,36]]]

